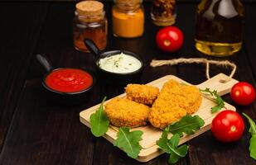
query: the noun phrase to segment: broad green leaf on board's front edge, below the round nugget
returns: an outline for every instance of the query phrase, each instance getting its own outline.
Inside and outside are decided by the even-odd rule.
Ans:
[[[114,146],[123,149],[131,158],[138,158],[138,153],[142,149],[139,141],[142,140],[143,132],[141,130],[133,130],[127,127],[120,127],[118,131],[118,139],[114,141]]]

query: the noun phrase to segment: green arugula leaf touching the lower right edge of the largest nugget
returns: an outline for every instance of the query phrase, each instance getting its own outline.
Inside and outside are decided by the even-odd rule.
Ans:
[[[195,131],[199,130],[200,127],[204,125],[205,121],[200,118],[199,115],[185,115],[181,120],[168,125],[167,130],[169,130],[171,134],[179,134],[180,136],[183,136],[183,133],[195,134]]]

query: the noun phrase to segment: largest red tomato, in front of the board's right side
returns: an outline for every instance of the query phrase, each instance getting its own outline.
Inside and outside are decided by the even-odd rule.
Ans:
[[[222,142],[233,142],[242,136],[244,120],[235,111],[221,111],[211,122],[211,132]]]

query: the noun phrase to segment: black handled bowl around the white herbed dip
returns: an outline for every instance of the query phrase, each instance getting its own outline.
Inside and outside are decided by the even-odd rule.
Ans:
[[[142,59],[140,59],[138,54],[135,54],[133,52],[127,51],[127,50],[111,50],[111,51],[105,51],[100,52],[97,46],[94,44],[92,40],[85,39],[85,45],[86,47],[95,55],[95,66],[97,68],[97,73],[99,74],[99,78],[101,79],[101,82],[108,82],[111,84],[120,84],[125,85],[131,82],[139,82],[141,78],[142,69],[144,68],[144,64],[142,62]],[[138,59],[138,61],[141,63],[141,67],[133,72],[128,73],[114,73],[109,72],[107,70],[104,70],[103,68],[99,67],[99,60],[104,59],[106,57],[110,57],[112,55],[116,54],[128,54],[133,56],[134,58]]]

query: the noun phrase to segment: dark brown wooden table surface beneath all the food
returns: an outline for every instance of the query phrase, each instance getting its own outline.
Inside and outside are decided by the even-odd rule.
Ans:
[[[159,27],[150,20],[150,2],[145,2],[146,26],[142,37],[132,40],[114,38],[111,30],[112,2],[104,2],[109,18],[107,50],[131,50],[147,64],[141,83],[173,74],[194,84],[205,81],[205,66],[186,64],[151,68],[152,59],[209,57],[194,47],[197,2],[177,5],[176,26],[185,35],[183,48],[175,54],[157,50],[154,36]],[[256,76],[256,2],[244,2],[246,10],[243,49],[225,58],[238,65],[234,78],[251,82]],[[72,19],[75,2],[0,2],[0,164],[142,164],[128,158],[104,138],[95,138],[79,120],[80,111],[123,93],[123,87],[98,81],[88,101],[80,106],[58,106],[41,95],[45,73],[36,62],[37,53],[46,54],[57,67],[80,67],[92,71],[94,56],[76,51],[72,44]],[[210,74],[229,74],[225,68],[211,68]],[[225,101],[234,104],[229,96]],[[256,120],[256,103],[236,106]],[[245,120],[245,119],[244,119]],[[215,140],[210,131],[190,140],[189,153],[178,164],[255,164],[249,158],[249,124],[242,139],[231,144]],[[167,164],[167,154],[148,163]]]

